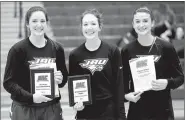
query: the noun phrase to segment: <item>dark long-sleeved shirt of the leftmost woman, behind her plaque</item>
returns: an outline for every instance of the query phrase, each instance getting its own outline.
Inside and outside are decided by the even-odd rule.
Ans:
[[[27,38],[13,45],[7,57],[3,85],[14,101],[30,106],[47,104],[33,103],[31,93],[29,65],[40,63],[56,63],[57,70],[60,70],[64,76],[59,87],[66,84],[68,72],[62,46],[48,39],[44,47],[37,48]],[[53,101],[59,101],[59,99],[60,97],[57,97]],[[48,103],[52,103],[52,101]]]

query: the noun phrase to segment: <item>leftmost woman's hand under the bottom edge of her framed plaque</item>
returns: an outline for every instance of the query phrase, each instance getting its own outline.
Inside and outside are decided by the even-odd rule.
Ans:
[[[48,97],[43,96],[41,94],[38,94],[38,93],[33,94],[33,102],[34,103],[48,102],[51,100],[52,100],[51,98],[48,98]]]

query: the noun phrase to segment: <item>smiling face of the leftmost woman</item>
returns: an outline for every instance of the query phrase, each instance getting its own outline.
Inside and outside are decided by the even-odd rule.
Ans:
[[[27,27],[31,34],[40,36],[44,35],[47,28],[46,16],[42,11],[35,11],[31,14]]]

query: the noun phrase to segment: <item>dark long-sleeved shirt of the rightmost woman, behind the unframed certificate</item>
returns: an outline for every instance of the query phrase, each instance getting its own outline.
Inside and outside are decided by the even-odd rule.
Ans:
[[[150,50],[150,51],[149,51]],[[121,50],[123,61],[124,91],[134,92],[129,60],[146,55],[153,55],[156,69],[156,79],[167,79],[165,90],[146,91],[136,103],[130,102],[128,119],[141,120],[141,118],[173,115],[170,90],[183,84],[184,75],[177,53],[171,43],[156,38],[151,46],[142,46],[138,41],[133,41]]]

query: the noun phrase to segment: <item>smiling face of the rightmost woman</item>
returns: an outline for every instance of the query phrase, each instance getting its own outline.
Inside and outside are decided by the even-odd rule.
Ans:
[[[151,29],[154,26],[149,13],[137,12],[133,18],[133,28],[138,35],[146,35],[151,33]]]

